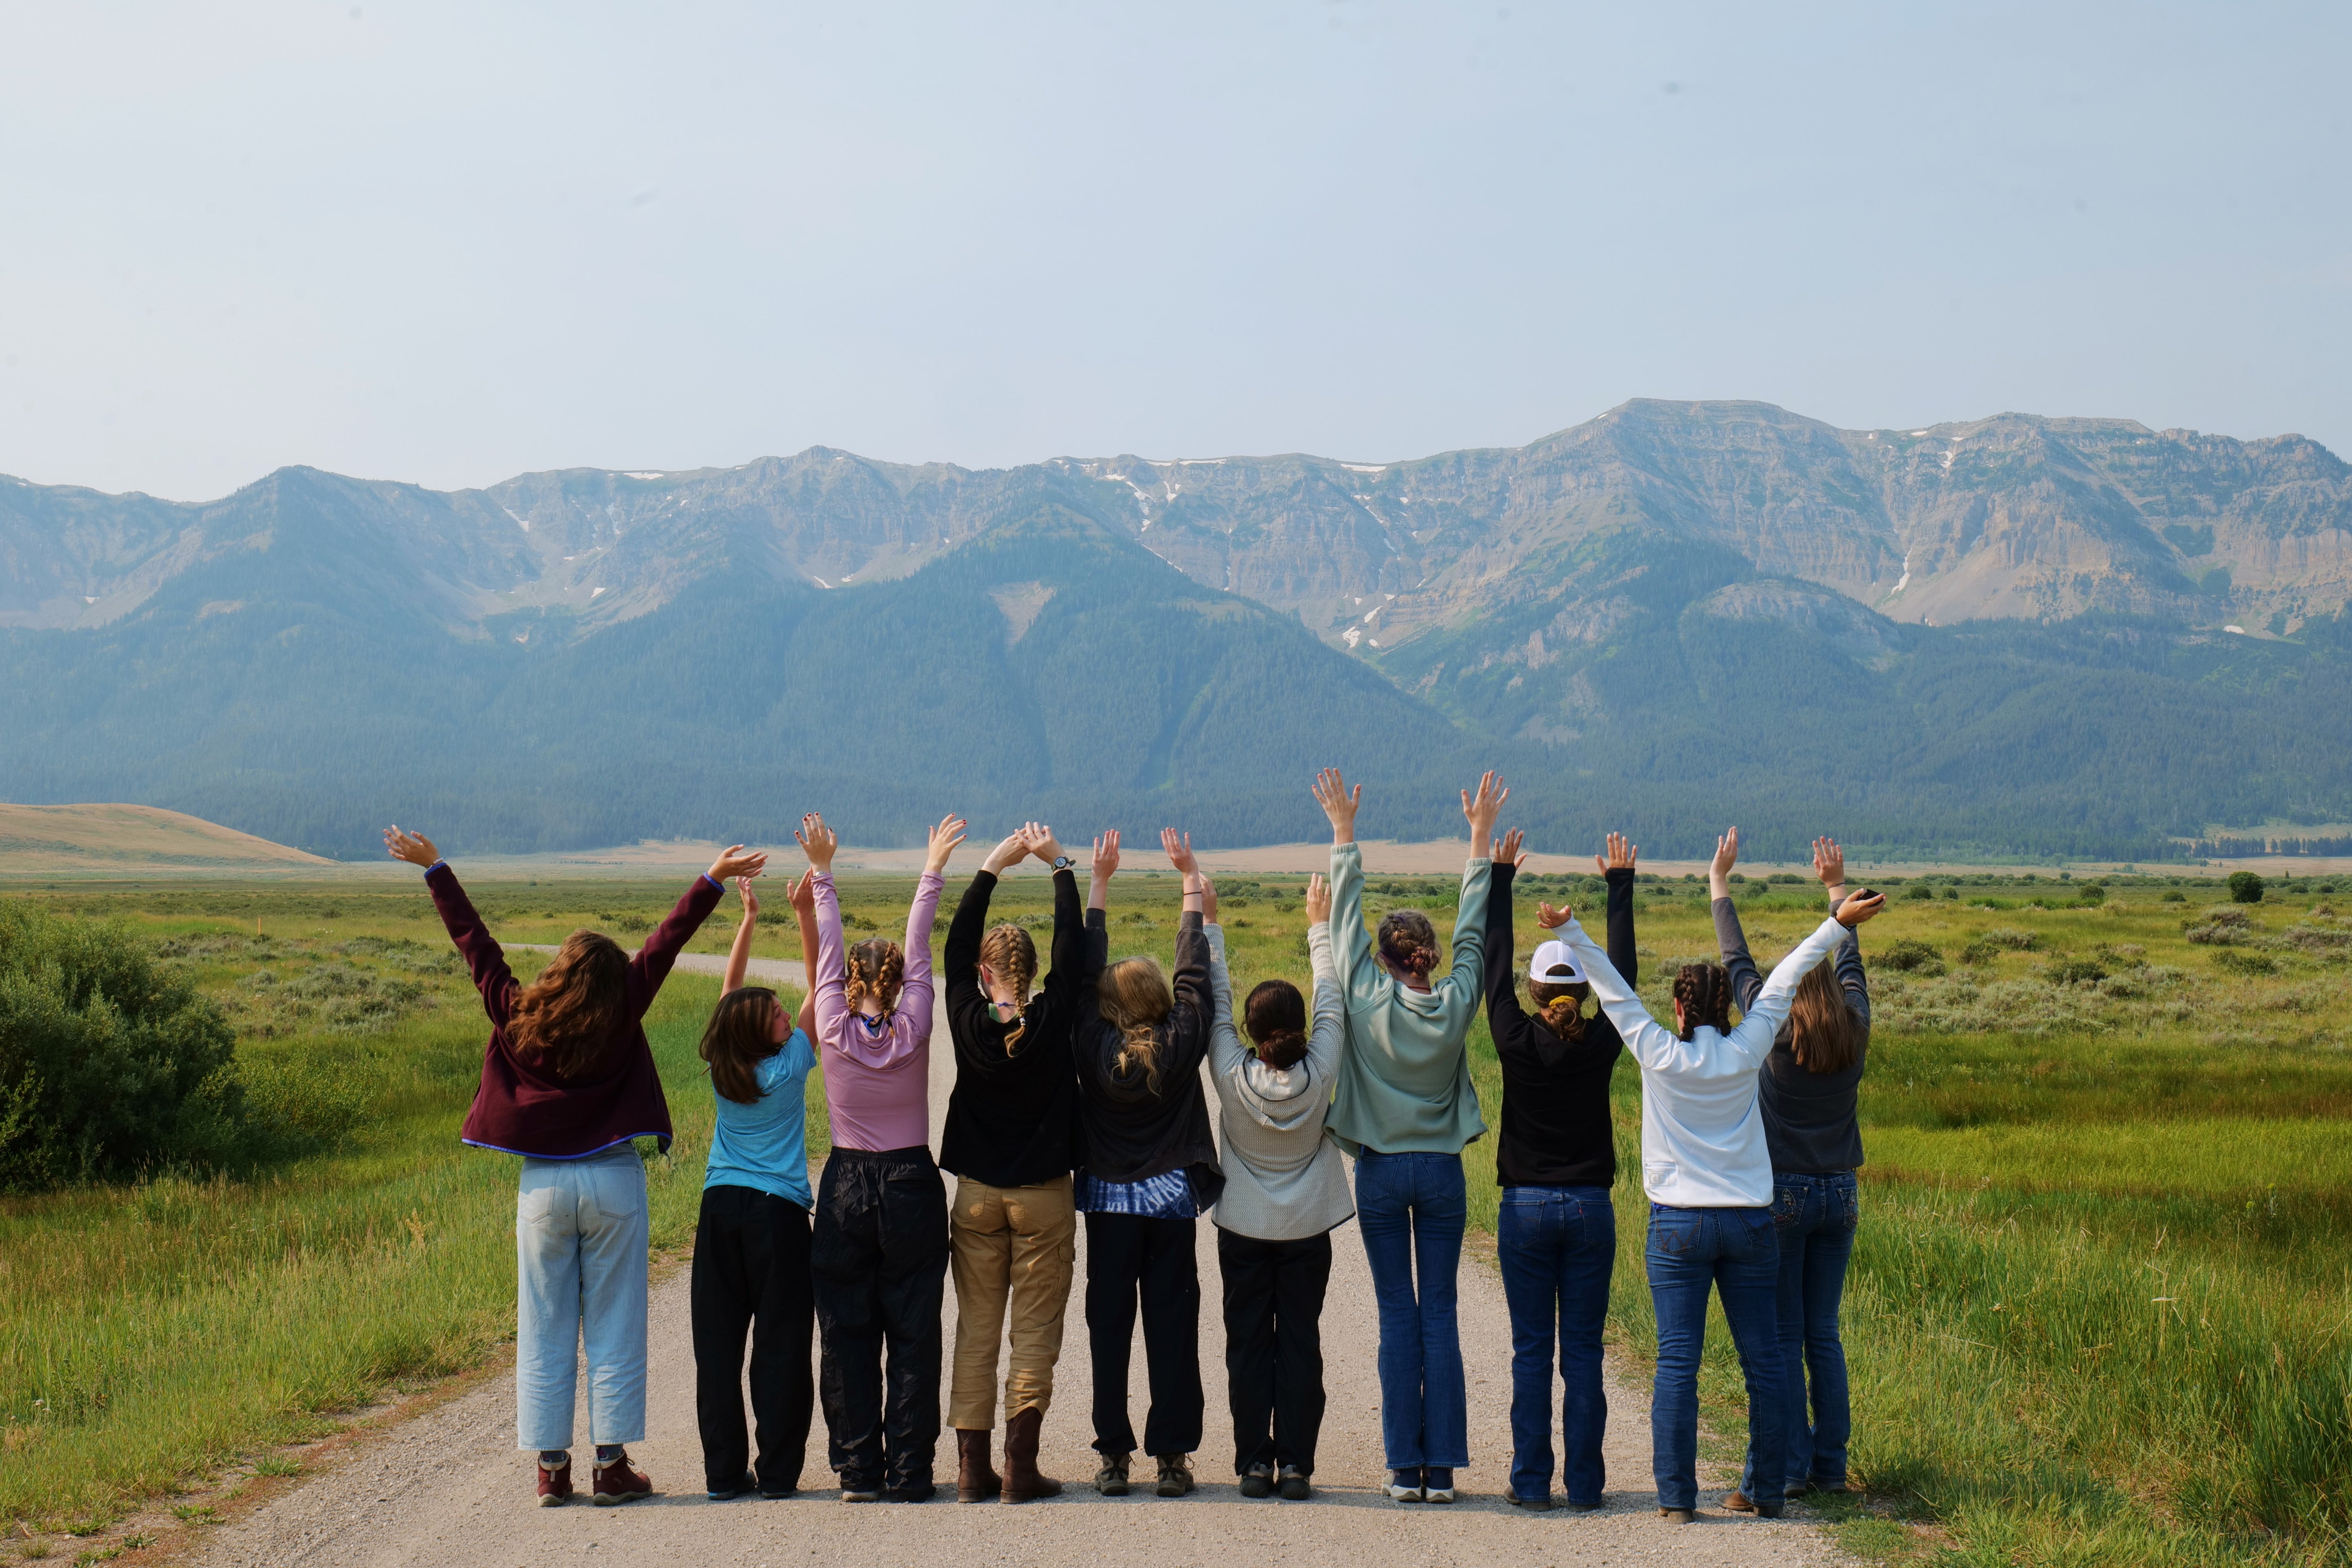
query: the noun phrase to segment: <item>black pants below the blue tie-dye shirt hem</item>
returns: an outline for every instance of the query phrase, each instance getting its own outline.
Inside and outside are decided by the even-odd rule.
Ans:
[[[1200,1448],[1200,1265],[1197,1220],[1145,1220],[1131,1213],[1087,1215],[1087,1342],[1094,1349],[1094,1448],[1134,1453],[1127,1422],[1127,1354],[1143,1298],[1143,1363],[1152,1410],[1143,1453]]]

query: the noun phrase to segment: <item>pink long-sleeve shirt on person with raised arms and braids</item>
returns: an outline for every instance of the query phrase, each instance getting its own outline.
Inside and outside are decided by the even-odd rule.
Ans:
[[[931,1143],[931,917],[941,879],[924,872],[906,912],[906,976],[884,1018],[849,1011],[842,903],[816,872],[816,1044],[837,1150],[913,1150]]]

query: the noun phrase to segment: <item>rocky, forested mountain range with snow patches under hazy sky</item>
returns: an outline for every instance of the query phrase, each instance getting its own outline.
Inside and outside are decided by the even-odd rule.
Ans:
[[[2018,414],[1630,402],[1404,463],[287,468],[212,503],[0,480],[0,797],[325,853],[388,818],[774,839],[809,804],[863,842],[957,806],[1242,844],[1319,827],[1322,762],[1383,837],[1451,832],[1503,764],[1559,846],[1738,818],[2157,858],[2352,816],[2347,599],[2317,442]]]

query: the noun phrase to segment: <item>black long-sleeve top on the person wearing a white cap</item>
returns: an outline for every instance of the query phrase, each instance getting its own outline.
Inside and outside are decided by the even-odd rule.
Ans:
[[[1585,1018],[1583,1037],[1569,1041],[1519,1006],[1512,872],[1496,860],[1486,896],[1486,1027],[1503,1060],[1503,1135],[1494,1145],[1494,1175],[1503,1187],[1613,1187],[1609,1074],[1625,1041],[1609,1013]],[[1637,983],[1630,870],[1609,872],[1609,961],[1625,985]]]

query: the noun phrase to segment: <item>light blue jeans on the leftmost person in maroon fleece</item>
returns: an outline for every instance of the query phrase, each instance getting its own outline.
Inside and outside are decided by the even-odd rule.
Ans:
[[[588,1342],[588,1441],[644,1439],[644,1161],[633,1145],[524,1159],[515,1199],[515,1446],[569,1448]]]

